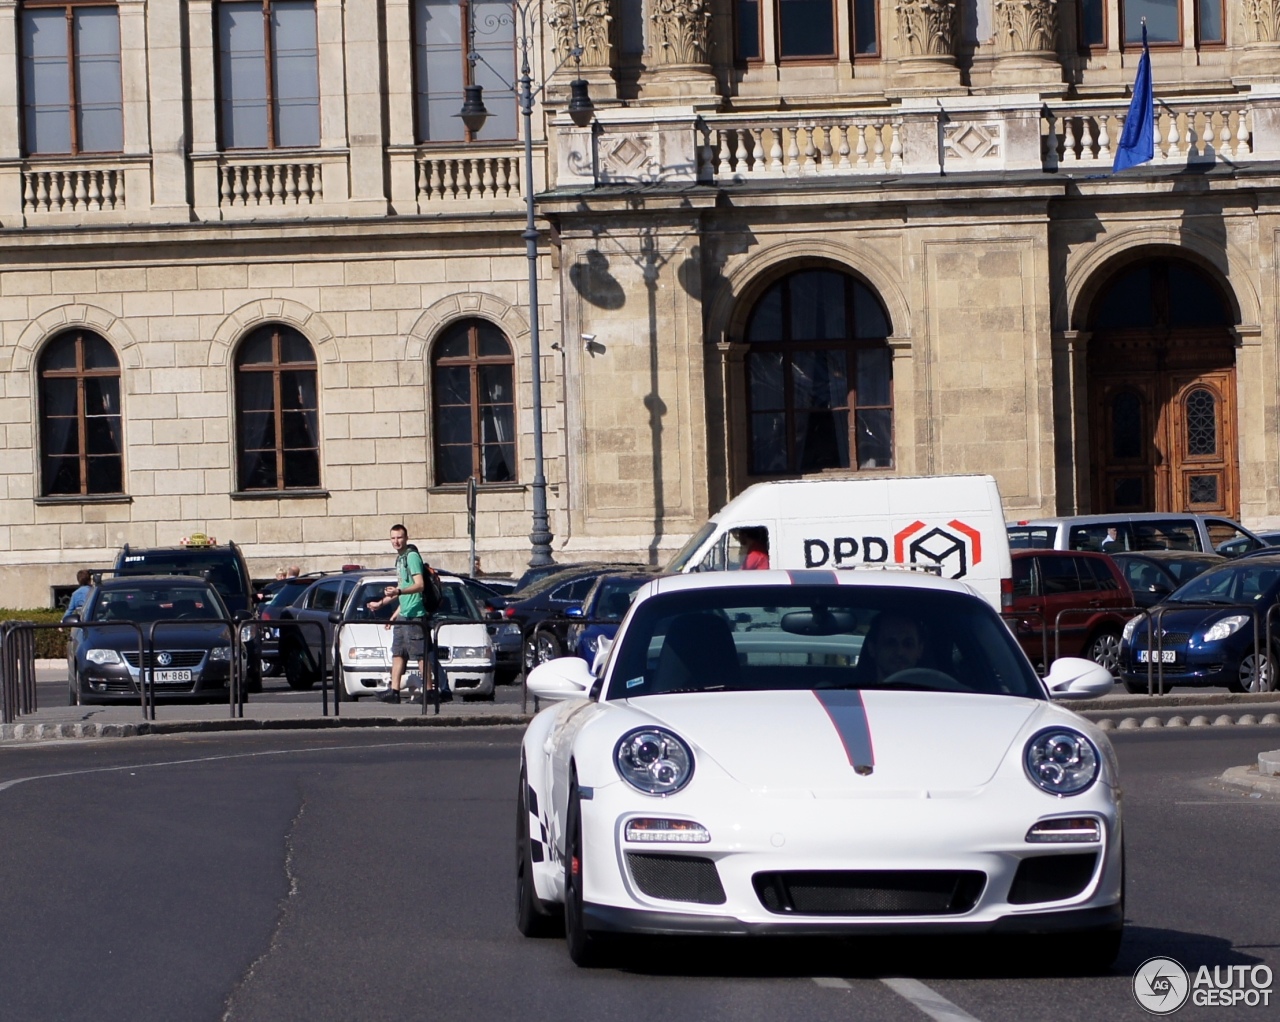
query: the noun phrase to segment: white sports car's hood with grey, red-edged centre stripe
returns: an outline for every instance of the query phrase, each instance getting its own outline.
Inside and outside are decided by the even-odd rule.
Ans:
[[[1047,703],[829,689],[648,695],[630,706],[759,794],[892,798],[980,788]]]

